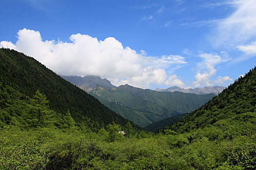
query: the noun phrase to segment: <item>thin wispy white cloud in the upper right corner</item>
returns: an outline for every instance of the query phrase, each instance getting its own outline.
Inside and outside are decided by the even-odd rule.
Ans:
[[[256,38],[256,0],[236,0],[236,11],[218,23],[210,37],[216,47],[236,47]]]

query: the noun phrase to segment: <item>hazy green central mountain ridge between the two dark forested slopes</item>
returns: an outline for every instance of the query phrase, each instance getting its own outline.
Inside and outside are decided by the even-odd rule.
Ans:
[[[133,114],[134,111],[139,111],[139,115],[142,114],[140,119],[130,120],[135,123],[144,122],[139,124],[140,126],[145,126],[157,120],[181,113],[191,112],[215,96],[212,93],[197,95],[182,92],[158,92],[131,85],[120,85],[115,89],[96,87],[90,94],[122,116],[125,114],[120,112],[120,110],[125,108],[121,109],[121,106],[132,109]],[[111,103],[118,104],[119,106]],[[138,118],[138,116],[136,117]]]

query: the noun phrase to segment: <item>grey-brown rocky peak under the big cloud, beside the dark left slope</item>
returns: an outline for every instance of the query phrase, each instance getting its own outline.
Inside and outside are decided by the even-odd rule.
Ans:
[[[81,89],[87,93],[92,91],[95,87],[104,87],[104,88],[116,88],[115,85],[112,85],[107,79],[101,79],[99,76],[61,76],[65,80],[69,81],[73,85],[79,86]]]

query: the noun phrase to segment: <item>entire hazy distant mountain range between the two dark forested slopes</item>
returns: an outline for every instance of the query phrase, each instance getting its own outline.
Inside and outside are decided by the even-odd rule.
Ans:
[[[158,92],[131,85],[117,87],[107,79],[101,79],[98,76],[62,77],[87,90],[111,110],[142,127],[164,118],[189,113],[215,96],[213,93],[197,95],[182,92]]]

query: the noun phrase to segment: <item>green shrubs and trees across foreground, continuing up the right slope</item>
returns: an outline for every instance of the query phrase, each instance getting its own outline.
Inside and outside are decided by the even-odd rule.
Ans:
[[[256,169],[256,68],[156,134],[138,132],[129,121],[91,131],[74,121],[71,109],[52,109],[40,89],[26,95],[0,79],[1,170]]]

